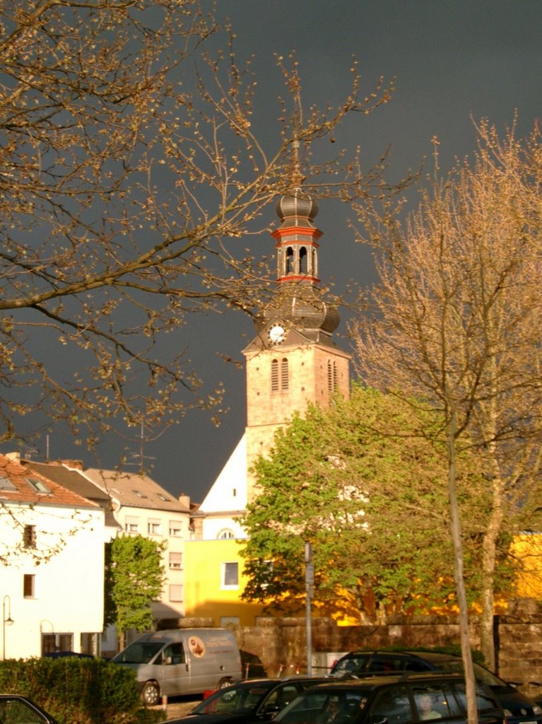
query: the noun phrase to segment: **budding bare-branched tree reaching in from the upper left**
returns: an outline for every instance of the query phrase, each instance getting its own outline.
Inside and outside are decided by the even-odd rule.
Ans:
[[[192,0],[4,0],[0,30],[0,439],[33,418],[93,445],[115,422],[212,408],[190,313],[261,305],[270,277],[242,237],[292,180],[347,201],[389,190],[358,158],[310,155],[389,88],[360,96],[354,64],[343,103],[303,115],[295,59],[278,59],[269,151],[257,79]]]

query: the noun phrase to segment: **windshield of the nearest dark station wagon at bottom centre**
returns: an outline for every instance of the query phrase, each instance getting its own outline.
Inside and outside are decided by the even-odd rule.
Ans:
[[[281,724],[297,724],[299,722],[334,722],[342,724],[357,719],[365,707],[370,691],[356,689],[346,691],[342,689],[305,689],[291,704],[283,709],[274,718],[274,722]]]

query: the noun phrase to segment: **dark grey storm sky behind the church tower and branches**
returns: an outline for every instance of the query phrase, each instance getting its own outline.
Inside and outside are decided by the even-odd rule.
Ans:
[[[219,0],[218,12],[219,20],[232,22],[238,57],[255,55],[255,130],[269,139],[278,132],[276,98],[282,93],[274,56],[292,50],[306,106],[341,100],[352,56],[367,92],[381,75],[396,78],[389,104],[369,117],[358,115],[336,136],[337,146],[360,146],[368,161],[391,145],[391,174],[397,178],[431,156],[435,135],[443,172],[455,156],[472,153],[471,117],[487,117],[503,132],[517,111],[517,135],[524,136],[542,115],[540,0]],[[268,213],[273,224],[272,207]],[[370,254],[354,245],[346,213],[345,206],[322,201],[316,219],[323,231],[321,278],[334,277],[336,292],[353,277],[363,285],[371,281]],[[271,237],[263,235],[258,243],[262,254],[271,253]],[[252,333],[251,322],[235,313],[200,319],[188,333],[192,360],[208,386],[224,382],[230,411],[218,429],[205,413],[190,413],[177,429],[145,445],[153,478],[170,492],[203,500],[241,437],[244,371],[225,365],[217,353],[241,361]],[[347,346],[340,336],[337,341]],[[51,457],[73,455],[81,450],[52,437]],[[112,451],[104,448],[102,456],[104,466],[116,463]],[[94,464],[90,458],[85,463]]]

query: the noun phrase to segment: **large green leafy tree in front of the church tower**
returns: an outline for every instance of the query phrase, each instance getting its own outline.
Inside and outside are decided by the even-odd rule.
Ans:
[[[310,407],[277,432],[271,454],[255,463],[258,494],[242,518],[246,598],[304,605],[308,541],[316,605],[329,611],[383,621],[454,604],[446,456],[418,434],[420,416],[428,418],[357,385],[350,400]],[[461,481],[462,508],[478,507],[483,486],[467,455]],[[474,600],[478,541],[474,531],[466,537]]]

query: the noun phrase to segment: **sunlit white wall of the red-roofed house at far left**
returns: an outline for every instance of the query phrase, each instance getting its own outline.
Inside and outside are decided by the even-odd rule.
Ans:
[[[6,658],[41,656],[42,633],[72,633],[72,648],[80,651],[81,633],[103,629],[103,510],[4,502],[0,532],[12,550],[25,525],[35,526],[39,552],[61,548],[39,565],[22,551],[3,569],[4,620],[14,623],[3,626],[0,652]],[[34,576],[32,596],[24,595],[25,575]]]

